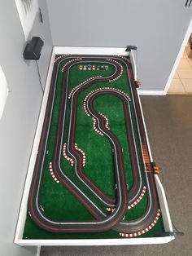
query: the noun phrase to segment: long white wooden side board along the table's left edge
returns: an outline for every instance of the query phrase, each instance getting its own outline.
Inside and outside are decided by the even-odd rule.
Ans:
[[[24,232],[24,223],[25,223],[24,220],[26,218],[26,213],[27,213],[28,193],[29,193],[32,178],[33,178],[33,170],[34,170],[35,161],[37,157],[38,145],[41,138],[41,129],[44,121],[44,116],[46,113],[46,102],[47,102],[49,90],[50,90],[50,80],[51,80],[51,75],[53,71],[54,60],[55,60],[55,52],[53,49],[52,55],[50,58],[50,67],[46,77],[46,88],[44,90],[44,95],[42,99],[41,112],[40,112],[38,123],[37,123],[37,130],[36,130],[36,134],[33,142],[33,149],[31,153],[29,165],[28,165],[28,173],[26,176],[24,192],[23,192],[22,201],[20,205],[20,214],[17,222],[16,232],[15,232],[15,241],[14,241],[16,244],[18,244],[18,241],[20,240],[20,237],[23,236],[23,232]]]

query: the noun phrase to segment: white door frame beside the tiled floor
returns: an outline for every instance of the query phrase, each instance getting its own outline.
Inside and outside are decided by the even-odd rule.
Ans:
[[[168,77],[168,82],[166,84],[166,86],[164,87],[164,95],[167,95],[168,93],[168,88],[169,86],[171,85],[171,82],[172,82],[172,78],[174,77],[175,73],[176,73],[176,70],[177,70],[177,67],[178,67],[178,64],[181,60],[181,56],[183,54],[183,52],[185,51],[185,46],[187,45],[187,42],[190,38],[190,34],[192,33],[192,18],[190,19],[190,24],[189,24],[189,27],[188,29],[186,30],[186,33],[185,33],[185,37],[184,37],[184,40],[181,44],[181,48],[180,48],[180,51],[178,52],[178,55],[177,55],[177,58],[176,58],[176,61],[172,67],[172,71]]]

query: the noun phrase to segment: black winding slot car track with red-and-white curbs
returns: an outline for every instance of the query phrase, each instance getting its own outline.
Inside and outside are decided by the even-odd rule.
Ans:
[[[77,86],[69,90],[70,70],[74,66],[84,64],[104,64],[113,68],[109,76],[89,77]],[[56,82],[59,68],[62,66],[62,88],[59,99],[59,114],[55,128],[55,145],[52,161],[50,162],[50,174],[55,183],[61,183],[67,188],[76,200],[84,205],[85,209],[93,215],[91,220],[55,220],[46,216],[41,207],[40,190],[42,183],[43,164],[46,157],[46,146],[50,132],[50,121],[53,116],[55,104]],[[128,95],[123,90],[112,86],[112,82],[118,82],[122,73],[126,73],[130,84]],[[111,87],[105,84],[111,82]],[[95,89],[94,84],[99,83]],[[78,99],[83,91],[90,89],[81,105]],[[94,108],[94,102],[103,95],[111,95],[120,101],[124,110],[124,124],[126,130],[126,143],[129,146],[129,157],[133,172],[133,184],[127,186],[126,171],[124,168],[124,156],[122,147],[117,136],[112,132],[110,122],[103,113]],[[85,152],[76,144],[76,118],[77,109],[83,108],[85,115],[92,119],[93,132],[105,137],[111,145],[111,154],[114,166],[114,179],[116,186],[115,197],[107,195],[99,188],[94,180],[85,174],[86,164]],[[136,132],[133,129],[133,115],[136,119],[137,130],[139,131],[138,141]],[[138,145],[139,144],[139,145]],[[142,152],[142,153],[141,153]],[[87,152],[91,153],[91,152]],[[141,156],[142,155],[142,156]],[[73,174],[78,182],[74,182],[68,172],[61,165],[62,158],[65,158],[72,166]],[[93,170],[94,171],[94,170]],[[129,170],[131,171],[131,170]],[[50,91],[47,99],[46,113],[41,130],[37,159],[33,172],[33,179],[28,196],[28,212],[33,221],[48,232],[104,232],[109,229],[120,233],[120,236],[133,237],[141,236],[151,230],[157,223],[160,215],[159,199],[155,188],[154,166],[151,163],[149,148],[146,140],[146,132],[142,120],[139,99],[137,96],[136,84],[133,79],[133,71],[129,60],[123,56],[115,55],[61,55],[55,60],[52,73]],[[103,174],[103,179],[104,174]],[[81,183],[81,186],[78,184]],[[85,188],[85,189],[82,189]],[[125,220],[125,214],[129,216],[129,210],[147,196],[147,204],[144,213],[136,219]],[[99,202],[99,203],[97,203]],[[68,209],[63,209],[68,210]],[[75,218],[75,216],[73,217]]]

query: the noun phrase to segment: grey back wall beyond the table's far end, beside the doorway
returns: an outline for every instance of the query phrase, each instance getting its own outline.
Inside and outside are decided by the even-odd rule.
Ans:
[[[142,90],[164,90],[192,7],[176,0],[47,0],[54,46],[136,45]]]

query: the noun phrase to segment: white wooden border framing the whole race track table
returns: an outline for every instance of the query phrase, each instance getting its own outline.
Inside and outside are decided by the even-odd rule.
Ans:
[[[60,47],[59,47],[60,48]],[[50,80],[51,80],[51,75],[52,75],[52,71],[53,71],[53,66],[54,66],[54,59],[55,59],[55,55],[56,54],[93,54],[93,52],[90,51],[90,48],[93,49],[93,47],[89,47],[89,49],[85,52],[84,51],[78,51],[75,49],[78,49],[80,47],[61,47],[62,49],[66,49],[68,48],[68,51],[61,51],[59,52],[59,48],[58,47],[54,47],[52,55],[51,55],[51,60],[50,60],[50,67],[49,67],[49,72],[47,74],[47,79],[46,79],[46,88],[44,91],[44,96],[43,96],[43,100],[42,100],[42,104],[41,104],[41,113],[39,116],[39,120],[38,120],[38,124],[37,124],[37,130],[36,130],[36,135],[35,135],[35,139],[34,139],[34,143],[33,143],[33,150],[32,150],[32,154],[31,154],[31,158],[29,161],[29,166],[28,166],[28,174],[27,174],[27,178],[25,181],[25,186],[24,186],[24,193],[23,193],[23,197],[22,197],[22,202],[20,205],[20,215],[18,218],[18,223],[17,223],[17,227],[16,227],[16,232],[15,232],[15,244],[17,245],[21,245],[21,246],[40,246],[40,245],[145,245],[145,244],[164,244],[164,243],[168,243],[169,241],[172,241],[172,239],[174,239],[174,236],[163,236],[163,237],[148,237],[148,238],[132,238],[132,239],[79,239],[79,240],[61,240],[61,239],[57,239],[57,240],[24,240],[22,239],[23,237],[23,232],[24,232],[24,223],[25,223],[25,218],[26,218],[26,213],[27,213],[27,202],[28,202],[28,193],[30,190],[30,184],[32,181],[32,177],[33,177],[33,169],[34,169],[34,165],[35,165],[35,161],[36,161],[36,156],[37,156],[37,149],[38,149],[38,144],[39,144],[39,140],[41,137],[41,129],[42,129],[42,125],[43,125],[43,120],[44,120],[44,116],[46,113],[46,102],[48,99],[48,94],[49,94],[49,89],[50,89]],[[72,49],[72,51],[69,51],[69,48]],[[81,50],[84,47],[81,47]],[[122,53],[120,53],[120,49],[122,51],[122,48],[116,48],[119,49],[118,53],[117,51],[111,52],[111,49],[115,49],[115,48],[111,48],[110,51],[106,51],[107,48],[100,48],[100,47],[94,47],[97,48],[95,52],[95,55],[98,54],[98,49],[99,49],[99,54],[101,55],[101,50],[103,50],[103,55],[106,54],[116,54],[116,55],[123,55]],[[76,51],[76,52],[75,52]],[[124,48],[125,51],[125,48]],[[82,53],[83,52],[83,53]],[[96,53],[97,52],[97,53]],[[128,53],[126,52],[126,55],[128,55]],[[142,106],[141,106],[141,102],[140,102],[140,98],[139,98],[139,103],[140,103],[140,107],[142,110]],[[143,118],[143,114],[142,114],[142,118]],[[144,121],[144,119],[143,119]],[[145,126],[145,122],[144,122],[144,126]],[[145,130],[146,130],[146,126],[145,126]],[[151,155],[151,149],[150,149],[150,145],[149,145],[149,141],[148,141],[148,136],[146,134],[146,138],[147,138],[147,143],[148,143],[148,147],[150,150],[150,155]],[[151,156],[151,161],[152,161],[152,156]],[[161,190],[163,187],[162,185],[159,185],[160,182],[157,183],[157,186],[159,188],[159,190]],[[162,192],[162,194],[164,194],[164,192]],[[166,198],[165,196],[162,196],[163,198],[163,205],[165,205],[164,202],[166,202]],[[167,202],[166,202],[167,204]],[[168,210],[168,207],[163,206],[165,210]],[[169,212],[165,212],[164,214],[164,218],[167,218],[166,214],[168,213],[168,218],[170,218],[169,216]],[[165,223],[168,223],[168,220],[165,220]],[[170,227],[170,226],[166,226],[166,227]],[[168,229],[169,231],[171,231],[171,227]],[[40,249],[39,249],[40,250]],[[37,249],[38,252],[38,249]]]

